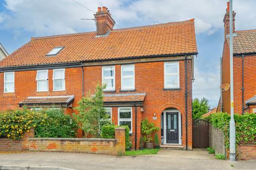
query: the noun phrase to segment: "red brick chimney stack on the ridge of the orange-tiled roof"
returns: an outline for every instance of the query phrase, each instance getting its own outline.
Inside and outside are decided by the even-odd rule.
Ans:
[[[106,35],[110,30],[113,30],[115,21],[111,17],[109,10],[106,6],[98,7],[98,11],[94,14],[97,26],[97,36]]]

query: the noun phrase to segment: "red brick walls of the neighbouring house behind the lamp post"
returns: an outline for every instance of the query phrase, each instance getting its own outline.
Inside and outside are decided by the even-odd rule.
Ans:
[[[234,67],[234,113],[242,114],[242,56],[233,57]],[[256,95],[256,56],[244,56],[244,107],[245,101]],[[224,44],[222,56],[222,83],[230,84],[229,46]],[[223,112],[230,113],[230,89],[222,91]],[[245,113],[252,113],[250,106]]]

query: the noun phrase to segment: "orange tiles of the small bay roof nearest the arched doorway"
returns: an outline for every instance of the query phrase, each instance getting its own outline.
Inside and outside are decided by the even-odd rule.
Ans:
[[[144,101],[146,94],[107,94],[103,95],[104,103]]]

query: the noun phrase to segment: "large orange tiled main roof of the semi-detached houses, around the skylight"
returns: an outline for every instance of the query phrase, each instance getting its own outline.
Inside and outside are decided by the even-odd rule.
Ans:
[[[1,61],[0,67],[197,53],[194,19],[114,29],[107,37],[95,37],[95,33],[31,38]],[[60,46],[64,48],[58,55],[46,56]]]

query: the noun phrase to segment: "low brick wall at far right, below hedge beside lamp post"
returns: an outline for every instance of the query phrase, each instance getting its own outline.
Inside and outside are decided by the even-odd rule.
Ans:
[[[238,158],[243,160],[255,160],[256,159],[256,145],[251,146],[238,146],[237,147]]]

